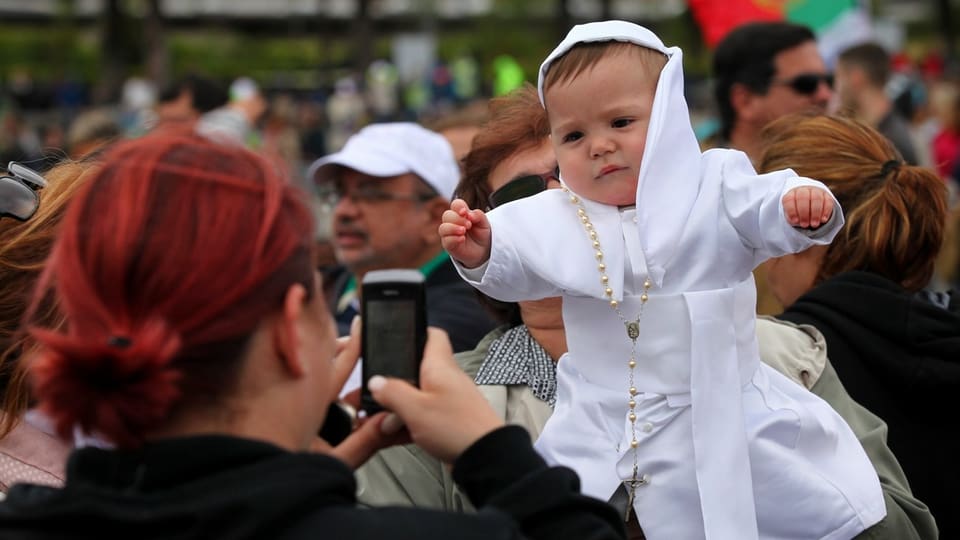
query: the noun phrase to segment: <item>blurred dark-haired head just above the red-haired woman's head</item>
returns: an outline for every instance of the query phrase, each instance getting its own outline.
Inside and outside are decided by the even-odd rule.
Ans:
[[[207,77],[188,74],[160,92],[156,128],[194,124],[200,117],[227,104],[227,90]]]

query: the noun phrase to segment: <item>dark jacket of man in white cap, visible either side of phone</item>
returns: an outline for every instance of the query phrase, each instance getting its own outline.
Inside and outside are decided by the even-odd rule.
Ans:
[[[350,273],[340,268],[324,279],[334,280],[331,310],[337,321],[338,334],[346,336],[350,334],[350,323],[357,315],[357,310],[352,307],[338,310],[336,303],[350,281]],[[424,285],[427,292],[427,325],[447,332],[453,352],[473,350],[484,336],[498,326],[480,305],[473,287],[460,277],[449,259],[430,272]]]

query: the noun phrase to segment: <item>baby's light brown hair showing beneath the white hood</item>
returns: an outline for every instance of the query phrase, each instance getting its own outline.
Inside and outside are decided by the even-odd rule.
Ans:
[[[578,43],[560,58],[554,60],[543,79],[543,93],[556,84],[567,82],[581,73],[589,71],[600,60],[617,55],[634,57],[640,63],[640,69],[650,77],[651,88],[656,88],[660,72],[667,65],[667,56],[660,51],[622,41],[597,41]]]

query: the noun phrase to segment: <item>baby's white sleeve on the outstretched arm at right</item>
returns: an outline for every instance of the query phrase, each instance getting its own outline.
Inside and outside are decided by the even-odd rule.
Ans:
[[[829,244],[843,226],[843,212],[830,190],[790,169],[757,174],[745,154],[731,153],[723,160],[721,182],[723,210],[758,263]],[[783,211],[783,196],[801,186],[822,189],[833,199],[833,216],[815,231],[793,227]]]

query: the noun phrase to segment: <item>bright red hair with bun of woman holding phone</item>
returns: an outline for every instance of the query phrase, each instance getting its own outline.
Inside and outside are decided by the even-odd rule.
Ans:
[[[65,332],[31,328],[40,406],[136,446],[191,400],[229,391],[262,318],[313,291],[311,213],[262,158],[193,136],[118,144],[71,202],[34,305],[52,286]]]

